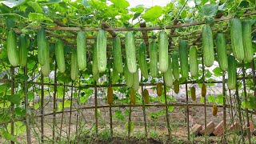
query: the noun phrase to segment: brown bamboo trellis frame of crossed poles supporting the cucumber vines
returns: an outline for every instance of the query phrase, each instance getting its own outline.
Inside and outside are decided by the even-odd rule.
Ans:
[[[256,11],[252,11],[252,12],[249,12],[249,13],[246,13],[246,14],[243,14],[242,16],[243,17],[247,17],[247,16],[250,16],[250,15],[253,15],[253,14],[256,14]],[[215,18],[214,19],[214,22],[222,22],[222,21],[226,21],[226,20],[230,20],[231,18],[234,18],[232,16],[230,17],[222,17],[222,18]],[[111,38],[114,38],[117,34],[115,34],[114,31],[127,31],[127,30],[140,30],[142,32],[142,39],[144,39],[144,41],[146,42],[146,44],[148,44],[149,42],[149,37],[147,35],[147,30],[162,30],[162,29],[177,29],[177,28],[181,28],[181,27],[187,27],[187,26],[198,26],[198,25],[202,25],[202,24],[205,24],[205,22],[192,22],[192,23],[187,23],[187,24],[174,24],[173,26],[166,26],[166,27],[160,27],[160,26],[153,26],[153,27],[146,27],[146,23],[141,23],[140,27],[134,27],[134,28],[124,28],[124,27],[115,27],[115,28],[112,28],[110,27],[109,25],[107,25],[106,23],[102,23],[102,28],[80,28],[80,27],[66,27],[65,25],[63,25],[61,22],[57,22],[57,21],[54,21],[56,24],[58,24],[58,26],[56,27],[48,27],[46,28],[46,30],[68,30],[70,31],[71,34],[74,34],[74,36],[67,36],[67,38],[75,38],[75,32],[74,31],[78,31],[78,30],[106,30],[110,33],[110,35],[112,37],[109,37],[110,39]],[[40,27],[35,27],[35,28],[31,28],[31,30],[38,30]],[[18,32],[18,30],[16,30],[16,32]],[[174,32],[174,31],[173,31]],[[199,34],[200,31],[198,32],[195,32],[194,34]],[[54,35],[54,34],[48,34],[49,36],[56,36],[56,37],[59,37],[58,35]],[[181,36],[180,34],[170,34],[169,37],[178,37],[178,36]],[[94,37],[89,37],[88,39],[95,39]],[[195,42],[197,42],[198,40],[200,40],[200,37],[198,37],[196,39]],[[252,67],[252,71],[253,71],[253,77],[251,77],[253,80],[254,80],[254,84],[256,85],[256,76],[255,76],[255,69],[254,69],[254,60],[251,62],[251,67]],[[203,67],[203,70],[204,70],[204,66]],[[27,71],[26,69],[24,69],[24,74],[26,74]],[[166,99],[166,85],[163,83],[163,86],[164,86],[164,93],[165,93],[165,99],[166,99],[166,102],[165,104],[161,104],[161,105],[146,105],[144,104],[143,102],[143,98],[142,98],[142,105],[113,105],[113,106],[98,106],[98,98],[97,98],[97,88],[98,87],[107,87],[108,85],[97,85],[97,83],[95,82],[94,85],[82,85],[79,87],[84,87],[84,88],[89,88],[89,87],[94,87],[94,106],[87,106],[87,107],[78,107],[77,110],[72,110],[72,106],[70,106],[70,110],[62,110],[62,111],[57,111],[56,110],[56,90],[57,90],[57,86],[67,86],[67,87],[70,87],[71,90],[73,91],[74,87],[77,87],[77,86],[73,86],[73,82],[72,82],[72,85],[69,86],[69,85],[66,85],[66,84],[59,84],[57,82],[57,78],[56,78],[56,66],[55,66],[55,70],[54,70],[54,84],[52,83],[45,83],[44,82],[44,77],[42,76],[41,77],[41,82],[29,82],[29,81],[26,81],[25,82],[25,90],[26,90],[26,86],[27,86],[27,83],[33,83],[34,85],[41,85],[41,88],[42,88],[42,95],[41,95],[41,114],[38,115],[38,116],[34,116],[34,118],[38,118],[40,117],[41,118],[41,134],[42,134],[42,142],[43,142],[43,139],[44,139],[44,129],[43,129],[43,122],[44,122],[44,117],[47,116],[47,115],[54,115],[54,126],[55,126],[55,116],[56,114],[62,114],[62,118],[63,118],[63,113],[66,113],[66,112],[69,112],[70,113],[70,118],[71,118],[71,115],[72,115],[72,112],[74,111],[78,111],[78,110],[88,110],[88,109],[94,109],[95,111],[95,127],[96,127],[96,135],[98,134],[98,114],[97,114],[97,111],[98,111],[98,108],[104,108],[104,107],[110,107],[110,119],[112,119],[112,114],[111,114],[111,108],[112,107],[126,107],[126,106],[129,106],[129,107],[140,107],[142,106],[142,109],[143,109],[143,116],[144,116],[144,123],[145,123],[145,131],[146,131],[146,135],[145,137],[147,138],[148,134],[147,134],[147,124],[146,124],[146,110],[145,110],[145,106],[163,106],[163,107],[166,107],[166,122],[167,122],[167,126],[168,126],[168,134],[169,136],[171,136],[170,134],[170,129],[169,129],[169,114],[168,114],[168,106],[183,106],[183,107],[186,107],[186,119],[187,119],[187,130],[188,130],[188,140],[190,140],[190,126],[189,126],[189,110],[188,108],[190,106],[204,106],[205,107],[205,120],[206,120],[206,107],[209,107],[209,106],[212,106],[212,105],[207,105],[206,104],[206,98],[205,98],[205,101],[204,101],[204,104],[190,104],[188,103],[188,90],[187,90],[187,84],[188,83],[194,83],[194,81],[186,81],[185,84],[186,84],[186,104],[185,103],[168,103],[167,102],[167,99]],[[203,73],[204,74],[204,73]],[[244,67],[242,67],[242,78],[238,78],[238,80],[242,80],[243,82],[243,89],[244,89],[244,93],[246,95],[246,79],[250,79],[250,78],[246,78],[245,76],[245,71],[244,71]],[[14,94],[14,83],[16,82],[14,80],[14,67],[11,67],[11,80],[9,79],[2,79],[0,80],[0,82],[10,82],[11,83],[11,92],[12,94]],[[226,84],[226,79],[225,79],[225,75],[222,76],[222,82],[203,82],[203,83],[222,83],[222,94],[224,95],[224,97],[226,96],[226,88],[225,88],[225,84]],[[43,99],[44,99],[44,86],[45,85],[48,85],[48,86],[54,86],[54,112],[53,113],[49,113],[49,114],[44,114],[44,102],[43,102]],[[126,86],[125,84],[113,84],[111,86]],[[155,86],[154,83],[143,83],[141,82],[140,83],[140,86],[142,86],[142,90],[143,90],[143,86]],[[237,89],[238,89],[238,86],[237,86]],[[26,103],[26,106],[28,105],[27,103],[27,90],[25,91],[25,103]],[[64,94],[65,94],[65,89],[64,89]],[[256,88],[254,89],[254,97],[256,98]],[[239,120],[242,124],[242,118],[241,118],[241,114],[242,114],[242,108],[240,107],[241,106],[241,102],[240,102],[240,98],[238,98],[238,90],[236,90],[236,98],[237,98],[237,101],[238,101],[238,117],[239,117]],[[223,107],[223,121],[224,121],[224,130],[226,130],[226,108],[230,108],[231,107],[231,110],[232,110],[232,103],[231,105],[226,105],[226,98],[224,98],[224,102],[223,102],[223,106],[219,106],[219,107]],[[71,93],[71,100],[72,100],[72,93]],[[245,96],[245,100],[246,100],[246,96]],[[232,102],[232,100],[231,100]],[[14,116],[14,106],[12,105],[11,106],[12,108],[12,116]],[[27,112],[27,107],[26,107],[26,112]],[[246,113],[246,121],[247,123],[249,122],[249,116],[248,114],[251,113],[251,114],[255,114],[254,111],[249,111],[248,109],[245,109],[245,113]],[[78,113],[77,113],[78,114]],[[233,116],[233,114],[232,114]],[[27,122],[28,120],[30,119],[30,116],[29,115],[26,115],[26,126],[28,128],[30,128],[30,123]],[[14,134],[14,122],[16,121],[21,121],[23,119],[14,119],[10,122],[11,123],[11,134]],[[129,121],[130,121],[130,118],[129,118]],[[6,124],[6,122],[4,123],[1,123],[2,124]],[[205,125],[206,125],[206,122],[205,122]],[[110,127],[112,128],[112,122],[110,122]],[[62,131],[62,130],[61,130]],[[130,132],[129,132],[130,133]],[[250,131],[247,133],[250,133]],[[27,134],[27,142],[28,143],[31,143],[31,136],[30,136],[30,130],[27,130],[26,131],[26,134]],[[248,140],[249,140],[249,143],[250,142],[250,134],[247,134],[248,135]],[[130,136],[130,134],[129,134]],[[225,140],[225,134],[223,134],[223,140]],[[55,141],[55,130],[53,130],[53,138],[54,138],[54,141]],[[68,134],[68,140],[70,140],[70,128],[69,128],[69,134]],[[242,140],[243,142],[245,141],[244,137],[242,137]]]

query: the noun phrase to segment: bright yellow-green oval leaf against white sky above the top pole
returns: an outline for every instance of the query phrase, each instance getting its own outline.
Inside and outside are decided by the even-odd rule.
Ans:
[[[159,18],[162,15],[162,12],[163,10],[161,6],[153,6],[149,10],[146,10],[145,14],[142,15],[142,18],[144,18],[146,22],[152,22]]]

